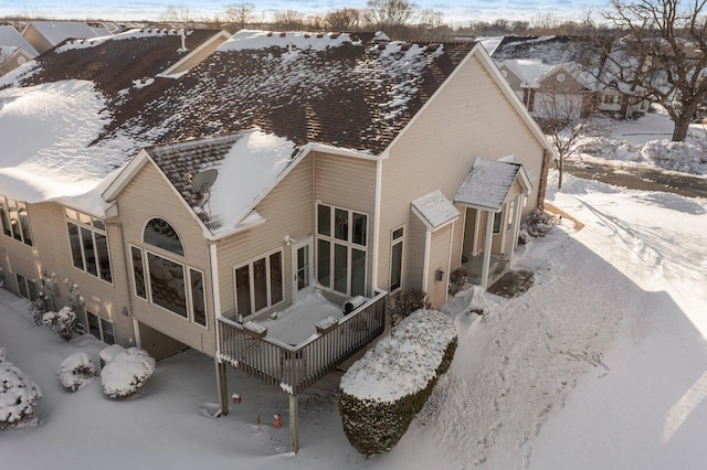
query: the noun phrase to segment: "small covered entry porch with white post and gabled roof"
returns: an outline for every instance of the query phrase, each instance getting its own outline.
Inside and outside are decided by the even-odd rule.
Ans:
[[[456,194],[465,211],[462,266],[484,289],[510,269],[530,191],[520,163],[479,158]]]

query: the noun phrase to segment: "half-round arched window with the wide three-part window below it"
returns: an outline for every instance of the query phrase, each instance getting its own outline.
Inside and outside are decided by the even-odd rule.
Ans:
[[[145,248],[130,246],[135,295],[197,324],[207,325],[203,273],[188,266],[184,247],[169,222],[151,218],[143,232]],[[161,248],[163,256],[150,249]]]

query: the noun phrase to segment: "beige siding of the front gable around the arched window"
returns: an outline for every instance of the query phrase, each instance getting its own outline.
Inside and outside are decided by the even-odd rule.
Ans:
[[[130,245],[134,245],[165,255],[166,258],[186,263],[189,267],[199,269],[204,275],[208,329],[191,323],[179,314],[151,305],[136,296],[131,296],[133,314],[141,323],[196,350],[213,355],[215,333],[213,299],[210,295],[212,288],[209,244],[192,213],[152,163],[146,164],[120,192],[117,203],[125,236],[126,259],[130,259]],[[145,224],[152,217],[161,217],[175,228],[184,248],[183,258],[143,244]],[[128,264],[127,273],[130,282],[133,282],[131,264]],[[130,287],[130,291],[133,291],[133,287]]]

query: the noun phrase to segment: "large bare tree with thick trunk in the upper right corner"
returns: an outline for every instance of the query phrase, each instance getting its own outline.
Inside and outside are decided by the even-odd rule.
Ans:
[[[707,0],[612,0],[602,15],[622,33],[604,46],[606,85],[653,96],[673,119],[673,140],[684,141],[707,97]]]

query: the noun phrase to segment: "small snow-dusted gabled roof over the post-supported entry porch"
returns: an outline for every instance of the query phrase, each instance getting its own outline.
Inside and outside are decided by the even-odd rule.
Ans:
[[[530,182],[520,163],[479,158],[456,193],[455,202],[485,211],[500,211],[516,179],[525,194]]]

